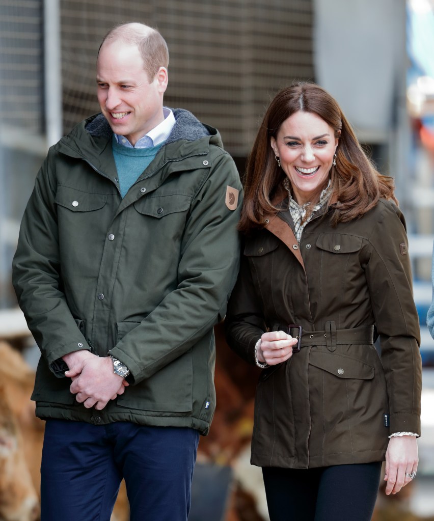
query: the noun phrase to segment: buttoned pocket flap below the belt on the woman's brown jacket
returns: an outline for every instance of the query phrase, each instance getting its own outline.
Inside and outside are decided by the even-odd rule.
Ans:
[[[309,354],[309,364],[324,369],[339,378],[357,378],[370,380],[374,378],[375,368],[366,362],[330,351],[314,351]]]

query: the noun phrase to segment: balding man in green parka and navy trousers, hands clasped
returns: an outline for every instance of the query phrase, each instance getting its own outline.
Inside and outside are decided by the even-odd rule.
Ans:
[[[167,46],[138,23],[97,59],[102,114],[48,153],[14,286],[41,348],[42,521],[182,521],[215,408],[213,325],[238,270],[240,180],[218,132],[163,107]]]

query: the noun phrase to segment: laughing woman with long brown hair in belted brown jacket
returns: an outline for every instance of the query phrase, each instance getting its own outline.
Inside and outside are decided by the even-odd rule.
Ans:
[[[381,461],[388,494],[416,475],[419,325],[395,203],[326,91],[277,94],[247,164],[225,322],[263,368],[251,461],[271,521],[366,521]]]

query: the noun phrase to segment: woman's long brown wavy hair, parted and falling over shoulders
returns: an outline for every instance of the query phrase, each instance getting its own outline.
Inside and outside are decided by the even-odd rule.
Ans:
[[[319,116],[334,130],[334,137],[339,138],[336,166],[330,170],[329,201],[339,202],[334,206],[333,225],[361,217],[380,197],[398,204],[393,194],[393,178],[381,175],[371,164],[337,101],[315,83],[294,83],[271,101],[256,135],[243,180],[244,203],[239,230],[247,232],[263,227],[264,215],[278,212],[272,200],[281,191],[286,174],[276,162],[270,138],[276,138],[283,121],[299,110]],[[318,199],[312,201],[312,206]]]

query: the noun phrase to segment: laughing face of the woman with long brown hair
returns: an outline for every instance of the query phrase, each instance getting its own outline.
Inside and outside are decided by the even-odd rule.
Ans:
[[[338,138],[324,119],[299,110],[280,126],[271,147],[288,176],[300,205],[326,184]]]

